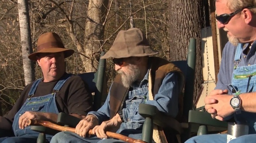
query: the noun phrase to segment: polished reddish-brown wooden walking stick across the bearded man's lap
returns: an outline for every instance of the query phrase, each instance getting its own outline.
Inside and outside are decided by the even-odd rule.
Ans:
[[[75,128],[60,126],[60,125],[54,124],[50,121],[28,119],[27,123],[28,123],[28,125],[31,125],[31,126],[32,125],[40,125],[40,126],[52,128],[52,129],[58,130],[58,131],[69,131],[69,132],[75,133]],[[93,130],[91,129],[89,131],[89,134],[90,135],[95,135],[92,132],[93,132]],[[113,132],[109,132],[109,131],[106,132],[106,135],[108,137],[120,139],[120,140],[126,141],[128,143],[146,143],[146,142],[144,142],[142,140],[139,140],[139,139],[133,139],[131,137],[121,135],[121,134],[117,134],[117,133],[113,133]]]

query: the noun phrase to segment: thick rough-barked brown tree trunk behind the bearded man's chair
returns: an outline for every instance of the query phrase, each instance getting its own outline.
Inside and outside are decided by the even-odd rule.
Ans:
[[[184,60],[190,38],[196,38],[197,59],[194,97],[199,94],[203,83],[201,49],[201,0],[169,0],[170,59]],[[194,98],[195,99],[195,98]]]

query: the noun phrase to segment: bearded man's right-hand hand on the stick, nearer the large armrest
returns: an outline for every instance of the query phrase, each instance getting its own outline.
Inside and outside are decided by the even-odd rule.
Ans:
[[[107,138],[106,131],[117,132],[120,128],[122,121],[118,114],[108,121],[102,122],[100,125],[93,128],[93,134],[96,134],[98,138]]]

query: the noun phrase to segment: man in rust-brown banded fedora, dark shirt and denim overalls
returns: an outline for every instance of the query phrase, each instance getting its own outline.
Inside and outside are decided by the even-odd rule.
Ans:
[[[15,136],[3,137],[2,143],[36,142],[38,132],[32,131],[27,119],[57,121],[57,114],[65,112],[83,119],[92,111],[92,95],[79,76],[66,73],[66,57],[74,50],[65,49],[56,33],[42,34],[37,41],[37,52],[29,58],[37,61],[43,78],[27,85],[11,111],[0,117],[0,130],[12,130]],[[52,135],[46,135],[48,141]]]

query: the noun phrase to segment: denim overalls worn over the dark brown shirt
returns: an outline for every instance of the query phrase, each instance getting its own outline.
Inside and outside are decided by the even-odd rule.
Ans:
[[[70,74],[65,78],[62,78],[53,88],[53,93],[40,96],[32,97],[35,93],[35,90],[40,83],[41,79],[36,80],[30,91],[29,98],[25,101],[20,110],[16,113],[14,121],[12,124],[13,132],[15,136],[38,136],[38,132],[30,130],[30,126],[25,127],[24,129],[19,128],[19,117],[24,114],[26,111],[35,111],[35,112],[47,112],[47,113],[56,113],[58,114],[58,109],[55,102],[56,92],[64,85],[64,83],[69,79]]]

